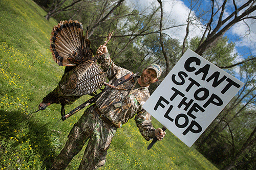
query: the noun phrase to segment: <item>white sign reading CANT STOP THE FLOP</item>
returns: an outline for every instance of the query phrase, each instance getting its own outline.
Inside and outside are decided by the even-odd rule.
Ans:
[[[191,147],[243,85],[187,50],[143,108]]]

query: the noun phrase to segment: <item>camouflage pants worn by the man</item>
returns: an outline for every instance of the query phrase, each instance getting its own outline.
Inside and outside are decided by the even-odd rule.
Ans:
[[[54,160],[52,169],[65,169],[89,138],[79,169],[96,169],[103,166],[106,152],[116,134],[116,130],[116,127],[111,127],[102,122],[93,106],[91,106],[70,131],[68,141]]]

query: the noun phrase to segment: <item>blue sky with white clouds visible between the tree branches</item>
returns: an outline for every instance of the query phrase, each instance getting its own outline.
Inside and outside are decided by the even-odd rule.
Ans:
[[[130,3],[133,3],[139,10],[142,10],[146,7],[155,5],[159,6],[157,0],[129,0]],[[209,0],[201,0],[206,6],[209,6]],[[189,3],[188,1],[180,1],[180,0],[162,0],[163,2],[163,10],[164,10],[164,21],[175,21],[177,24],[186,23],[186,19],[189,13]],[[236,1],[239,5],[239,2],[244,4],[244,0]],[[153,4],[152,4],[153,3]],[[232,3],[232,1],[228,0],[228,3]],[[194,11],[195,12],[195,11]],[[195,12],[196,13],[196,12]],[[224,16],[227,16],[230,13],[228,9],[225,11]],[[256,12],[254,12],[256,15]],[[250,27],[250,35],[248,27]],[[239,53],[240,57],[245,58],[249,55],[256,55],[256,24],[251,20],[247,20],[247,25],[244,22],[237,23],[232,26],[228,32],[225,33],[224,36],[229,38],[229,41],[236,43],[236,49],[234,53]],[[189,38],[193,38],[194,36],[202,35],[202,30],[198,27],[190,27]],[[181,42],[185,36],[185,27],[179,29],[172,29],[165,31],[170,37],[179,39]],[[241,59],[240,59],[241,60]]]

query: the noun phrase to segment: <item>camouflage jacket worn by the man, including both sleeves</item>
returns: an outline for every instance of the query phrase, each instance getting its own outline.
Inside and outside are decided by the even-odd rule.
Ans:
[[[108,53],[101,55],[98,62],[108,74],[109,83],[115,82],[115,80],[131,72],[115,65]],[[155,129],[151,123],[151,115],[142,108],[142,105],[150,97],[150,92],[148,87],[132,89],[137,80],[138,77],[135,77],[118,86],[127,90],[106,89],[95,104],[99,111],[118,128],[121,128],[123,124],[135,116],[135,122],[140,133],[146,140],[151,140],[155,136]]]

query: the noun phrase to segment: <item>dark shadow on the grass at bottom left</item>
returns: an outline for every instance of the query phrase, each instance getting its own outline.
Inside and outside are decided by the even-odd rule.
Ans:
[[[33,116],[26,116],[20,111],[7,112],[0,109],[0,156],[6,152],[15,153],[27,144],[33,150],[30,157],[39,155],[41,169],[48,169],[57,156],[56,148],[61,147],[59,133],[51,130],[49,124],[41,123]]]

